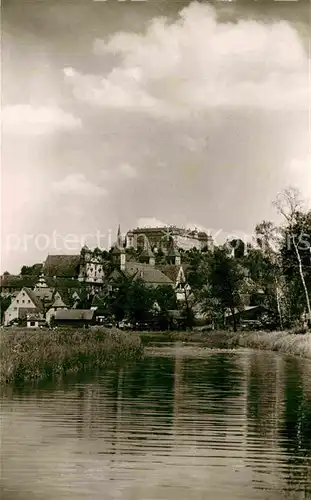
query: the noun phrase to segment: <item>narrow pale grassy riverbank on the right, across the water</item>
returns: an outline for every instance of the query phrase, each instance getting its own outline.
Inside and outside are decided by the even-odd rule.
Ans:
[[[142,343],[200,342],[206,347],[278,351],[311,359],[311,333],[290,332],[137,332]]]

